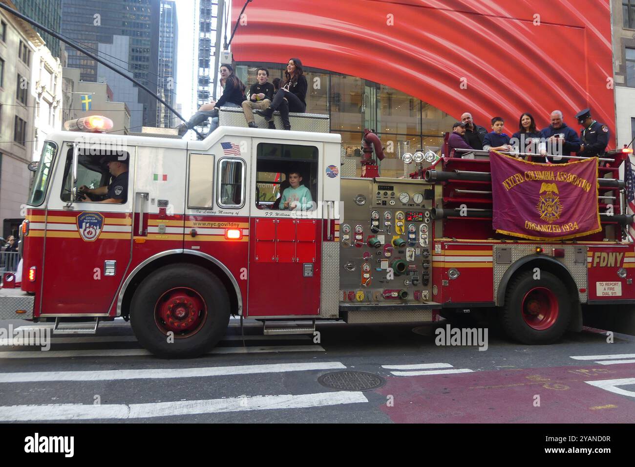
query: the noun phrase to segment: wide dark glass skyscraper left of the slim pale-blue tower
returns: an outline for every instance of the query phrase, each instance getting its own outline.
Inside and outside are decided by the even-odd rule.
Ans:
[[[137,81],[156,92],[160,13],[161,0],[62,0],[62,34],[93,53],[97,53],[99,44],[112,44],[113,36],[130,37],[127,62],[104,53],[100,58],[130,71]],[[68,66],[79,68],[83,81],[98,81],[95,60],[70,48],[67,51]],[[119,100],[116,86],[112,91],[115,100]],[[156,98],[139,90],[138,100],[143,104],[142,125],[156,126]]]

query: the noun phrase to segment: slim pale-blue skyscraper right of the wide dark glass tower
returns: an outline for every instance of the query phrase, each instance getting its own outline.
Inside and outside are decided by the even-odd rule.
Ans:
[[[177,99],[177,5],[161,0],[159,23],[159,97],[174,107]],[[157,126],[172,128],[178,118],[160,102],[157,103]]]

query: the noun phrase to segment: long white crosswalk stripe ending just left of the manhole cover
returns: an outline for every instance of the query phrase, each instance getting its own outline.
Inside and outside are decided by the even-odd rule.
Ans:
[[[44,381],[114,381],[116,379],[172,379],[342,369],[346,369],[346,366],[341,362],[315,362],[276,363],[271,365],[243,365],[237,367],[163,368],[103,371],[42,371],[0,373],[0,383]]]

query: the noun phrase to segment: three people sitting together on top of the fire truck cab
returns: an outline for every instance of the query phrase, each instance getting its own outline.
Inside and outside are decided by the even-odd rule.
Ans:
[[[291,58],[284,71],[284,81],[274,79],[269,83],[269,70],[260,67],[257,70],[257,82],[251,85],[249,98],[245,96],[246,86],[238,79],[231,65],[220,67],[220,85],[223,95],[217,101],[211,101],[199,107],[187,123],[178,127],[178,134],[185,135],[188,130],[201,125],[211,118],[209,133],[218,127],[218,109],[220,107],[239,107],[244,111],[247,125],[257,128],[253,113],[261,115],[267,121],[269,128],[276,129],[273,121],[275,111],[280,112],[284,130],[291,130],[289,112],[304,113],[307,109],[305,101],[307,95],[307,79],[302,71],[299,58]]]

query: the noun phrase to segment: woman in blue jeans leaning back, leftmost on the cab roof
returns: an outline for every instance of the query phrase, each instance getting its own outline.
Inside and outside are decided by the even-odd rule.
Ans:
[[[245,86],[243,82],[237,78],[232,65],[220,65],[220,85],[224,88],[223,95],[217,102],[203,104],[196,114],[192,115],[187,123],[178,126],[178,135],[183,136],[187,130],[191,130],[194,126],[201,125],[203,121],[211,117],[210,130],[208,134],[216,130],[218,127],[218,109],[220,107],[243,107]]]

